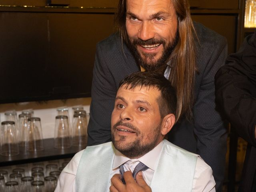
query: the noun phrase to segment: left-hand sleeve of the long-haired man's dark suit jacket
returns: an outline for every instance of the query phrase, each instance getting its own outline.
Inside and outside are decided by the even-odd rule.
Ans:
[[[96,47],[96,56],[92,78],[92,102],[88,124],[88,145],[111,141],[110,117],[114,108],[116,85],[106,65],[101,46]]]

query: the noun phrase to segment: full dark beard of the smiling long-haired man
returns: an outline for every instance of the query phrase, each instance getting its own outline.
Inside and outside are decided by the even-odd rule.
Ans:
[[[178,38],[178,30],[177,30],[175,38],[172,40],[172,42],[168,42],[168,44],[167,42],[164,41],[164,39],[158,40],[158,39],[152,38],[146,41],[143,41],[139,38],[133,39],[132,41],[130,41],[129,38],[127,39],[128,39],[128,42],[127,42],[128,48],[134,55],[138,65],[142,66],[147,71],[155,71],[161,66],[164,66],[168,62],[168,58],[172,54],[172,51],[174,50],[176,44],[178,43],[179,38]],[[160,58],[158,58],[158,60],[154,60],[156,53],[147,54],[142,52],[143,56],[140,55],[140,53],[138,52],[137,46],[153,45],[153,44],[162,44],[164,48],[162,55],[160,56]]]

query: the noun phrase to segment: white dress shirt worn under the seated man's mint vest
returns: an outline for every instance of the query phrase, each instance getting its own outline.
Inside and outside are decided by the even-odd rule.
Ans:
[[[114,174],[119,174],[119,166],[124,164],[124,171],[132,171],[135,166],[142,162],[148,169],[142,172],[142,176],[146,183],[150,185],[152,177],[154,175],[154,170],[156,169],[158,158],[163,147],[163,142],[160,142],[153,150],[145,154],[138,159],[129,159],[120,152],[116,150],[114,156],[114,162],[112,164],[112,172],[110,178]],[[63,169],[58,179],[58,184],[55,192],[75,192],[76,190],[76,171],[82,153],[84,150],[78,152],[68,165]],[[109,181],[108,188],[111,185]],[[212,169],[208,166],[201,157],[197,158],[196,168],[194,173],[192,192],[215,192],[215,181],[212,176]]]

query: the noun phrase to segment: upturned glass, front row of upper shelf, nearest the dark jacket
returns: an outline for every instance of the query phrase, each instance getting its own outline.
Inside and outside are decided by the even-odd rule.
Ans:
[[[72,145],[85,147],[87,144],[87,121],[85,114],[74,114]]]

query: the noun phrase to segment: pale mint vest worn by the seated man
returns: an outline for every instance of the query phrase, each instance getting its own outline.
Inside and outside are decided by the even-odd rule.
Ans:
[[[150,184],[152,192],[191,192],[198,155],[163,142]],[[76,173],[76,192],[109,192],[114,150],[112,142],[84,150]]]

